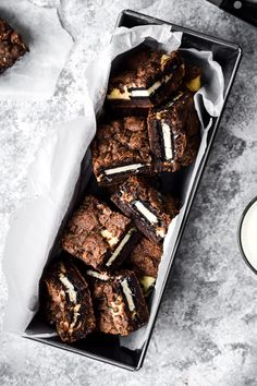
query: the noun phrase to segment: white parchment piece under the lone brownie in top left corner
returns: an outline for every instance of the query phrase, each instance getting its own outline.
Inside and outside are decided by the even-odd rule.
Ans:
[[[29,47],[12,68],[0,75],[0,99],[48,99],[73,46],[54,8],[27,0],[1,0],[0,17],[16,29]]]

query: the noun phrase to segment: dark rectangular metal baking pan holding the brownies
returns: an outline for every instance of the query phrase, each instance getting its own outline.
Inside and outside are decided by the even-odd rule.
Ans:
[[[199,32],[195,32],[195,31],[192,31],[188,28],[184,28],[184,27],[181,27],[179,25],[174,25],[174,24],[171,24],[168,22],[163,22],[161,20],[151,17],[151,16],[147,16],[147,15],[134,12],[134,11],[130,11],[130,10],[125,10],[119,15],[117,26],[125,26],[125,27],[131,28],[131,27],[134,27],[137,25],[143,25],[143,24],[163,24],[163,23],[170,24],[172,27],[172,31],[183,32],[183,39],[182,39],[181,47],[196,48],[196,49],[201,49],[201,50],[211,50],[213,52],[213,59],[220,63],[220,65],[222,67],[222,70],[223,70],[223,74],[224,74],[224,105],[222,108],[222,112],[223,112],[224,106],[225,106],[227,99],[229,97],[236,71],[238,69],[240,60],[242,57],[241,48],[237,45],[224,41],[222,39],[219,39],[219,38],[216,38],[212,36],[208,36],[208,35],[205,35],[205,34],[201,34]],[[222,113],[221,113],[221,116],[222,116]],[[205,169],[205,166],[206,166],[206,162],[208,159],[208,155],[210,153],[210,148],[211,148],[213,140],[215,140],[215,135],[218,131],[221,116],[219,118],[213,119],[212,126],[209,130],[207,149],[206,149],[204,159],[201,160],[200,166],[198,168],[197,174],[195,177],[195,181],[194,181],[194,184],[193,184],[193,188],[191,191],[191,196],[189,196],[187,206],[185,208],[185,215],[184,215],[184,218],[182,221],[182,226],[181,226],[180,233],[179,233],[179,237],[176,240],[176,244],[175,244],[175,248],[171,254],[169,268],[163,277],[163,285],[161,287],[162,289],[161,289],[160,298],[163,294],[163,291],[164,291],[164,288],[167,285],[167,280],[168,280],[168,277],[171,272],[172,264],[173,264],[173,261],[175,257],[175,253],[176,253],[176,250],[178,250],[178,246],[179,246],[182,233],[183,233],[186,218],[188,216],[194,196],[197,191],[197,186],[199,184],[203,171]],[[84,169],[82,168],[81,178],[78,179],[78,183],[77,183],[77,186],[76,186],[76,190],[74,193],[75,197],[73,197],[73,204],[71,204],[70,209],[69,209],[70,213],[72,213],[74,207],[77,206],[77,202],[79,202],[82,196],[85,194],[85,183],[83,186],[83,185],[81,185],[79,181],[82,181],[83,176],[85,177],[85,174],[87,174],[87,173],[88,173],[88,165],[86,165],[86,166],[84,165]],[[85,181],[85,179],[84,179],[84,181]],[[90,183],[90,181],[89,181],[89,185],[93,185],[93,186],[90,186],[90,191],[94,191],[94,182]],[[63,224],[65,224],[65,219],[63,220]],[[60,232],[61,232],[61,230],[60,230]],[[54,253],[54,251],[52,253]],[[159,305],[160,305],[160,303],[159,303]],[[159,305],[158,305],[158,310],[159,310]],[[152,328],[155,325],[155,321],[157,317],[157,313],[156,313],[154,322],[150,326],[149,334],[148,334],[148,336],[145,340],[145,343],[140,350],[130,350],[130,349],[123,348],[120,346],[118,337],[105,336],[105,335],[101,335],[98,337],[89,336],[87,339],[84,339],[84,340],[73,343],[73,345],[62,343],[57,338],[35,338],[33,336],[29,337],[29,335],[33,331],[35,333],[38,329],[40,322],[39,322],[37,315],[34,317],[33,322],[28,326],[28,328],[26,330],[27,335],[25,337],[133,371],[133,370],[140,369],[140,366],[143,365],[143,362],[144,362],[144,359],[146,355],[146,351],[147,351],[147,347],[148,347],[148,343],[149,343],[149,340],[151,337]]]

